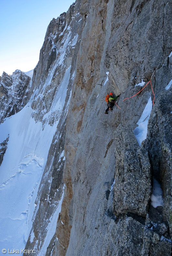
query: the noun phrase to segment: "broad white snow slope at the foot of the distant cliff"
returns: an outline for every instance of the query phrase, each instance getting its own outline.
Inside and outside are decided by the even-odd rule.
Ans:
[[[0,215],[0,248],[25,248],[32,228],[40,179],[65,104],[70,68],[65,72],[50,111],[44,115],[44,125],[32,118],[32,99],[20,112],[0,125],[0,143],[9,134],[6,153],[0,166],[0,208],[3,209]],[[48,119],[54,111],[58,113],[58,118],[51,126]],[[52,219],[57,221],[58,214],[53,216]]]

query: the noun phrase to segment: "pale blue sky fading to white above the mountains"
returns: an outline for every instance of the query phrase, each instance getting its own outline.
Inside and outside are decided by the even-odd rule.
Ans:
[[[75,0],[0,0],[0,76],[27,72],[39,60],[50,21]]]

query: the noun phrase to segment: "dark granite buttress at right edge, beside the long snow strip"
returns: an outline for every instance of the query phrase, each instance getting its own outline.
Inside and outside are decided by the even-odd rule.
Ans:
[[[163,217],[172,235],[172,115],[170,98],[172,90],[161,92],[156,108],[152,110],[147,135],[147,148],[153,175],[162,184],[164,195]],[[150,128],[151,127],[151,128]]]

